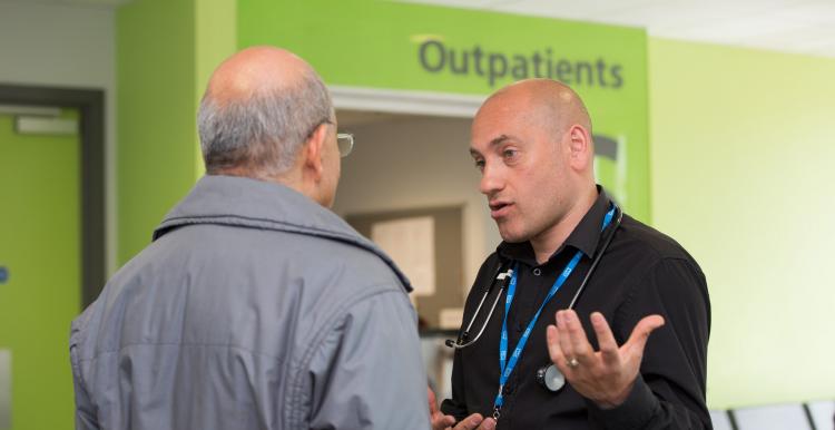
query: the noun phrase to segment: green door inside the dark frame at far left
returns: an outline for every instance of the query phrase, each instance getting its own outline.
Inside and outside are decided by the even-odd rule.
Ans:
[[[78,118],[75,110],[65,118]],[[0,349],[11,430],[71,429],[70,321],[81,306],[79,136],[18,135],[0,116]]]

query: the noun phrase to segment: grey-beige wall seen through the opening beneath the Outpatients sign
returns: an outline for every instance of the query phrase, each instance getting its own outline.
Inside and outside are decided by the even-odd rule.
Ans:
[[[338,119],[338,114],[337,114]],[[350,127],[356,144],[343,159],[334,211],[340,215],[463,206],[463,274],[468,292],[501,240],[479,193],[469,154],[470,119],[399,117]],[[343,125],[340,125],[343,129]]]

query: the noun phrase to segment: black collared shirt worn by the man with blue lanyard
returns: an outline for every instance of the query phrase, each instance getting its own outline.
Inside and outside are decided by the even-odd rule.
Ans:
[[[464,323],[472,317],[484,289],[497,271],[518,263],[518,284],[508,315],[509,352],[537,312],[557,275],[571,257],[584,255],[557,295],[546,305],[528,344],[505,384],[499,428],[504,429],[709,429],[705,404],[707,341],[710,302],[705,275],[694,258],[674,240],[623,215],[611,244],[574,305],[592,346],[597,339],[589,315],[599,311],[609,322],[618,344],[629,339],[644,316],[660,314],[666,324],[647,342],[640,374],[628,399],[601,410],[569,383],[558,392],[536,380],[537,370],[550,364],[546,328],[554,313],[568,307],[591,265],[592,256],[610,225],[601,232],[610,199],[599,196],[580,224],[544,264],[538,264],[529,242],[502,242],[479,271],[464,307]],[[485,309],[473,324],[481,328],[500,289],[493,289]],[[452,399],[441,410],[459,421],[471,413],[489,417],[499,389],[499,338],[504,314],[504,292],[484,334],[477,343],[458,350],[452,371]],[[473,333],[474,335],[474,333]]]

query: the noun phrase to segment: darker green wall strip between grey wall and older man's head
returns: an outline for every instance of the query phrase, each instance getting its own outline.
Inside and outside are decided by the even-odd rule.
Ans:
[[[194,184],[195,3],[137,0],[117,12],[118,261],[145,245]]]

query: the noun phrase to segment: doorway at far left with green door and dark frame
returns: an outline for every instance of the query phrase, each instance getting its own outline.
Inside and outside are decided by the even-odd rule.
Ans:
[[[69,323],[106,276],[104,92],[0,85],[0,105],[36,111],[0,114],[0,430],[71,429]]]

